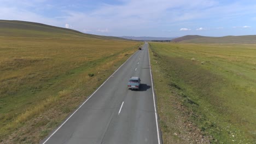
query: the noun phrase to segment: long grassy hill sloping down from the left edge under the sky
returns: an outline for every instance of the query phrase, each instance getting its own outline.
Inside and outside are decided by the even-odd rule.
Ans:
[[[33,37],[33,38],[96,38],[115,39],[118,37],[107,37],[101,35],[85,34],[73,29],[44,25],[42,23],[27,21],[0,20],[0,36],[5,37]]]

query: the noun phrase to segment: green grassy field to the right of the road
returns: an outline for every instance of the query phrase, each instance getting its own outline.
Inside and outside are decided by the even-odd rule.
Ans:
[[[164,143],[256,142],[255,47],[150,43]]]

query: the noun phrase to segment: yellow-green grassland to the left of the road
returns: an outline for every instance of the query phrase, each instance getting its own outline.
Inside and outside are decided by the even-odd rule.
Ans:
[[[0,33],[0,143],[38,143],[141,44],[29,24]]]

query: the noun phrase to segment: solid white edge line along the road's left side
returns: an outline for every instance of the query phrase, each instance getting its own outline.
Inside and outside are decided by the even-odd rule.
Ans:
[[[135,53],[137,53],[137,52],[135,52]],[[48,139],[46,139],[42,144],[45,144],[67,121],[68,121],[68,119],[69,118],[71,118],[73,115],[74,115],[74,113],[75,112],[77,112],[85,103],[86,103],[86,101],[88,101],[91,97],[92,97],[92,95],[94,95],[97,91],[98,91],[98,89],[100,89],[103,85],[104,85],[104,83],[106,83],[109,79],[110,79],[110,77],[112,77],[115,73],[117,73],[117,71],[127,62],[127,61],[129,61],[129,59],[133,56],[133,55],[135,55],[135,53],[133,53],[117,70],[115,70],[115,72],[112,74],[112,75],[110,75],[109,77],[108,77],[108,79],[106,80],[106,81],[104,81],[103,83],[102,83],[102,85],[100,86],[100,87],[98,87],[97,89],[96,89],[96,91],[94,92],[94,93],[92,93],[91,94],[91,96],[88,98],[88,99],[86,99],[85,101],[84,101],[84,103],[82,104],[82,105],[80,105],[79,107],[78,107],[78,109],[77,110],[75,110],[73,113],[72,113],[72,115],[70,115],[67,119],[66,119],[66,121],[65,122],[63,122],[61,125],[60,125],[60,127],[59,128],[57,128],[55,131],[54,131],[54,133],[53,134],[51,134],[49,137],[48,137]]]

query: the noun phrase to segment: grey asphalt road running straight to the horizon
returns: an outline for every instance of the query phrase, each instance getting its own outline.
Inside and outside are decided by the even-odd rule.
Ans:
[[[139,91],[127,89],[139,76]],[[152,91],[148,44],[132,55],[41,143],[162,143]]]

